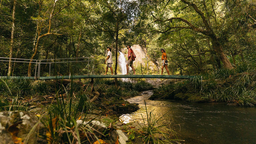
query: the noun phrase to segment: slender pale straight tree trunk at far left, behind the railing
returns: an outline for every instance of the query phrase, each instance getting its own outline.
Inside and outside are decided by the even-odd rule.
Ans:
[[[2,2],[2,1],[1,1]],[[15,8],[16,8],[16,0],[13,1],[13,9],[12,9],[12,34],[11,34],[11,47],[10,47],[10,59],[9,59],[9,68],[8,68],[8,76],[11,75],[12,72],[12,54],[13,54],[13,45],[14,45],[14,21],[15,21]]]

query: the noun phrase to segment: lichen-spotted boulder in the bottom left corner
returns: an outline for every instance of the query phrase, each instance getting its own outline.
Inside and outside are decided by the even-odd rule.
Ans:
[[[0,112],[2,144],[13,144],[19,139],[27,144],[46,144],[46,127],[36,116],[25,111]]]

